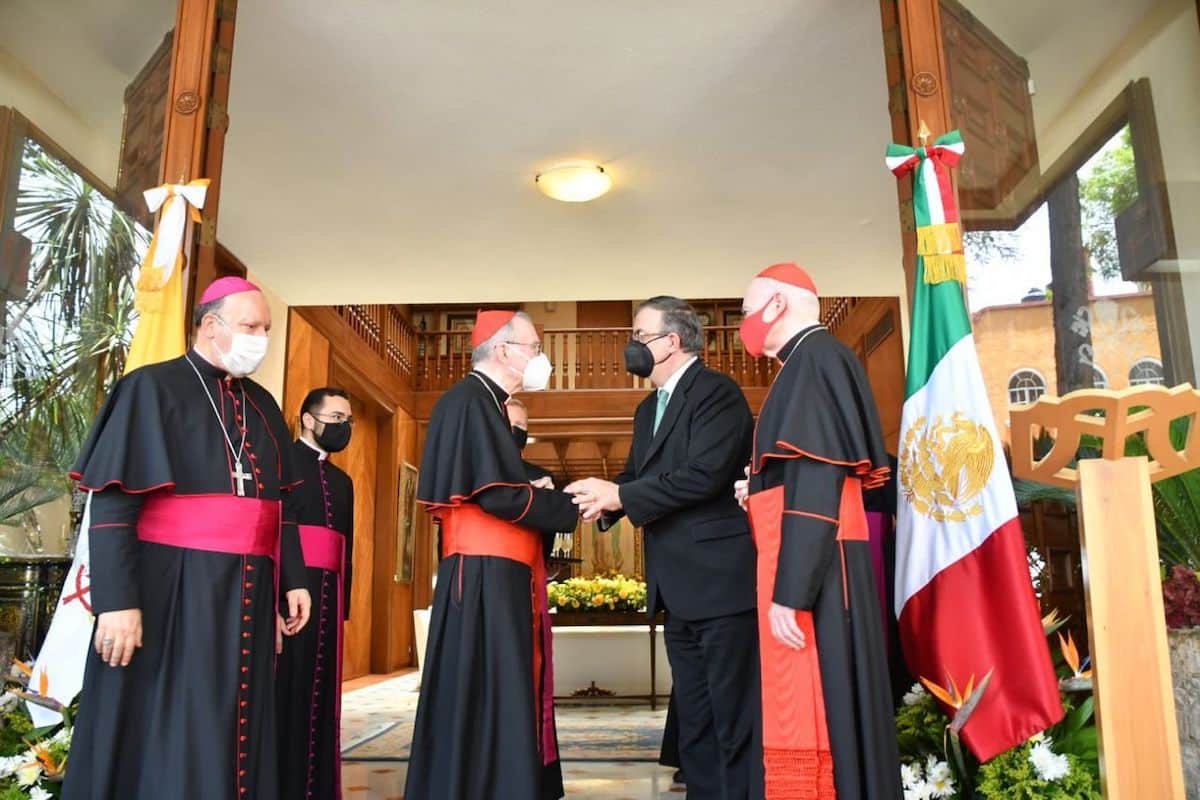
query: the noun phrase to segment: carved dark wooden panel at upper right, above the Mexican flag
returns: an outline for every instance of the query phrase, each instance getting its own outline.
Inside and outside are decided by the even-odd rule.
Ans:
[[[1015,228],[1040,179],[1028,64],[958,0],[942,0],[942,36],[950,116],[967,149],[958,170],[964,224]]]

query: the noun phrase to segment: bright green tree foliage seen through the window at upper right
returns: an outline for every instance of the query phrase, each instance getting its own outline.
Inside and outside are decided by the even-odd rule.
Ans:
[[[1084,243],[1096,270],[1106,278],[1121,275],[1115,219],[1138,199],[1133,139],[1129,126],[1117,143],[1098,155],[1079,181]]]

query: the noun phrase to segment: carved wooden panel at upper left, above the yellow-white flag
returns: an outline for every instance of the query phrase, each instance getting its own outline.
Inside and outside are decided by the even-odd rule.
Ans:
[[[167,34],[125,90],[125,127],[121,132],[116,196],[120,205],[148,228],[154,225],[154,215],[146,210],[142,192],[158,185],[173,38],[173,34]],[[168,180],[178,180],[178,176],[168,176]]]

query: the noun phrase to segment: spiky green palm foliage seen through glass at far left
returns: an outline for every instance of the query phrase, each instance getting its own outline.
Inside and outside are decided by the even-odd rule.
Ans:
[[[25,296],[0,318],[0,524],[70,491],[64,474],[124,366],[133,275],[149,241],[32,140],[14,227],[32,248]]]

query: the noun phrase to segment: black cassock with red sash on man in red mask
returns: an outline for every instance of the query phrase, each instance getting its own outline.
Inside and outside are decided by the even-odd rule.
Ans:
[[[878,411],[858,359],[824,327],[798,333],[779,359],[755,429],[748,503],[758,547],[767,795],[899,800],[862,493],[888,473]],[[804,649],[772,634],[772,602],[798,609]]]

